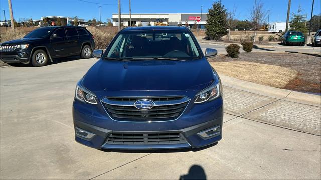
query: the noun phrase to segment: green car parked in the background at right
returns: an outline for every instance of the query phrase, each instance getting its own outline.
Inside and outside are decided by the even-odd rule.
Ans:
[[[281,38],[281,44],[298,44],[301,46],[305,45],[305,37],[302,32],[287,31]]]

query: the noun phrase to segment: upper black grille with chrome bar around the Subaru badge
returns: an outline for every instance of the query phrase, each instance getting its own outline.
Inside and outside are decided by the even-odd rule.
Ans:
[[[102,101],[109,115],[120,121],[165,121],[173,120],[181,115],[189,99],[184,96],[175,97],[107,97]],[[140,99],[152,100],[156,105],[149,110],[140,110],[134,103]]]

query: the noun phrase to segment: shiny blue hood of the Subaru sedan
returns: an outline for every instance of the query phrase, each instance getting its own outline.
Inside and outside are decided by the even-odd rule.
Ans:
[[[92,92],[202,90],[213,82],[213,71],[206,59],[99,60],[83,77],[82,85]]]

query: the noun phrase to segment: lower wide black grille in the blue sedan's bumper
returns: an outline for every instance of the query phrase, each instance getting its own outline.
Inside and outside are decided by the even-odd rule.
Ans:
[[[182,133],[111,133],[106,144],[123,145],[154,145],[154,144],[179,144],[186,143]]]

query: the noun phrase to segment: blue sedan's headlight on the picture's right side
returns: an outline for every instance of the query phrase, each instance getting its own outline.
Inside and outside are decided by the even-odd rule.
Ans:
[[[196,94],[195,96],[196,100],[194,101],[194,103],[202,103],[202,102],[214,100],[218,98],[220,94],[221,94],[220,83],[211,85],[210,87]]]

